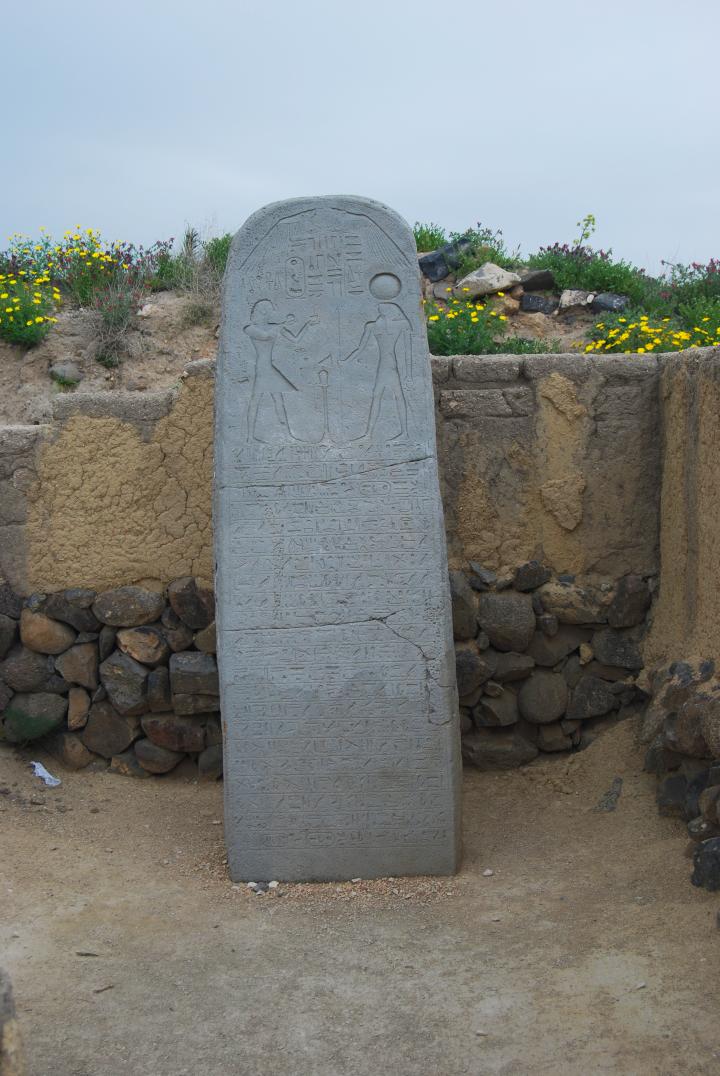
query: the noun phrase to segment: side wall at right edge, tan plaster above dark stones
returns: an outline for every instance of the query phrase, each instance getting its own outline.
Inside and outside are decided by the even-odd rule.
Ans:
[[[661,586],[643,739],[658,807],[688,825],[693,884],[720,890],[720,355],[663,356]]]

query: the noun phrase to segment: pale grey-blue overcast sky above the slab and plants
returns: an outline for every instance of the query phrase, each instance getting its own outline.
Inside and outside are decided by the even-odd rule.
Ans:
[[[718,0],[26,0],[2,25],[3,243],[361,194],[524,252],[592,212],[649,270],[720,256]]]

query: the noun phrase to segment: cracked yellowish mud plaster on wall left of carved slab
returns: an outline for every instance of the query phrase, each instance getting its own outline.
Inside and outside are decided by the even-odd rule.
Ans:
[[[17,589],[212,578],[213,373],[199,362],[177,390],[60,398],[37,452]]]

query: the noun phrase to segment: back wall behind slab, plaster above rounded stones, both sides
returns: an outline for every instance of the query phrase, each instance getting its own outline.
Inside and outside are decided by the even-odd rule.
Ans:
[[[512,765],[643,697],[659,363],[462,356],[433,372],[465,756]],[[216,691],[198,686],[216,682],[211,618],[177,607],[184,591],[212,600],[213,374],[196,362],[164,392],[65,394],[53,423],[0,438],[11,739],[39,717],[71,765],[159,773],[189,756],[217,776]]]

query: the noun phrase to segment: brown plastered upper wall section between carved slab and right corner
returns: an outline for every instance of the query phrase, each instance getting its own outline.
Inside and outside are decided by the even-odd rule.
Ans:
[[[435,363],[452,567],[537,558],[584,576],[657,571],[655,358]]]

